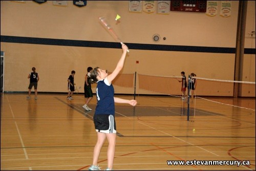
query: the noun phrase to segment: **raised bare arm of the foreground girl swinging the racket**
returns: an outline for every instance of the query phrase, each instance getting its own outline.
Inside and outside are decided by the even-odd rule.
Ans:
[[[123,68],[123,64],[125,61],[125,57],[126,57],[126,53],[127,53],[127,49],[128,47],[124,44],[122,44],[122,49],[123,49],[123,53],[121,58],[119,59],[117,66],[115,68],[115,70],[107,76],[109,83],[111,83],[113,81],[113,79],[115,79],[115,77],[117,76],[117,74],[122,70]]]

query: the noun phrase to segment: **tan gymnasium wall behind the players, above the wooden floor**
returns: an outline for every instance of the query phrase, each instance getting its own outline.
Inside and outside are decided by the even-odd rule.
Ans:
[[[129,12],[129,1],[87,1],[87,6],[81,8],[74,6],[73,1],[68,1],[66,7],[54,6],[52,1],[40,5],[25,2],[1,1],[5,92],[28,91],[27,76],[32,67],[40,77],[39,92],[67,92],[72,70],[76,71],[75,83],[81,87],[80,92],[87,67],[113,71],[122,53],[121,45],[114,43],[100,25],[99,16],[108,18],[123,42],[130,45],[123,74],[180,76],[184,71],[186,76],[194,72],[203,78],[234,79],[238,1],[232,1],[229,17],[173,11],[134,13]],[[117,14],[121,16],[119,22],[115,20]],[[255,1],[248,1],[246,33],[253,29]],[[160,35],[160,41],[153,41],[154,34]],[[245,36],[245,48],[254,49],[254,53],[244,55],[241,74],[243,81],[255,82],[255,35]],[[26,38],[29,41],[24,41]],[[177,86],[174,94],[181,93],[181,85]],[[197,95],[232,96],[232,90],[233,84],[200,84],[199,80]],[[133,92],[133,88],[115,86],[115,93]],[[144,90],[136,93],[155,94]],[[255,84],[243,85],[241,96],[255,97]]]

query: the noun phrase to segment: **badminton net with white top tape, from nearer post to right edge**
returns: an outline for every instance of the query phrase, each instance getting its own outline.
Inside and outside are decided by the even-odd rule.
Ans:
[[[231,108],[236,107],[255,111],[255,82],[209,79],[201,77],[192,78],[196,78],[197,80],[197,88],[194,92],[195,100],[197,99],[198,101],[198,99],[201,99],[208,101],[208,103],[216,103],[215,105],[212,104],[212,107],[226,105]],[[239,98],[233,98],[235,83],[240,84],[239,98],[244,97],[243,102],[241,102]],[[196,106],[199,107],[199,105],[196,105],[195,103],[195,107]]]

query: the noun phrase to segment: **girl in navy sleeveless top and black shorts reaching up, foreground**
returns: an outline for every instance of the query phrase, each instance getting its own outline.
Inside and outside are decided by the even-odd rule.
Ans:
[[[118,73],[122,70],[124,60],[127,53],[127,46],[122,44],[123,53],[119,59],[117,66],[113,73],[108,75],[105,70],[99,67],[93,69],[91,73],[92,82],[97,82],[96,95],[97,106],[94,113],[94,125],[97,132],[97,142],[93,152],[93,164],[89,167],[89,170],[99,170],[98,158],[101,147],[108,139],[108,168],[106,170],[113,169],[115,146],[116,146],[116,123],[115,123],[115,102],[116,103],[128,103],[133,106],[137,104],[136,100],[126,100],[114,97],[114,87],[111,82],[115,79]]]

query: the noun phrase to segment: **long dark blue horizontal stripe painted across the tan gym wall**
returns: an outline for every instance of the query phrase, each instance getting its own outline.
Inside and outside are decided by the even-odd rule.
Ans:
[[[120,48],[118,42],[84,41],[52,38],[34,38],[18,36],[1,36],[1,42],[12,42],[19,44],[57,45],[93,48]],[[181,51],[181,52],[207,52],[207,53],[236,53],[236,48],[199,47],[199,46],[175,46],[175,45],[152,45],[152,44],[130,44],[129,49],[156,50],[156,51]],[[255,49],[244,49],[244,54],[255,54]]]

